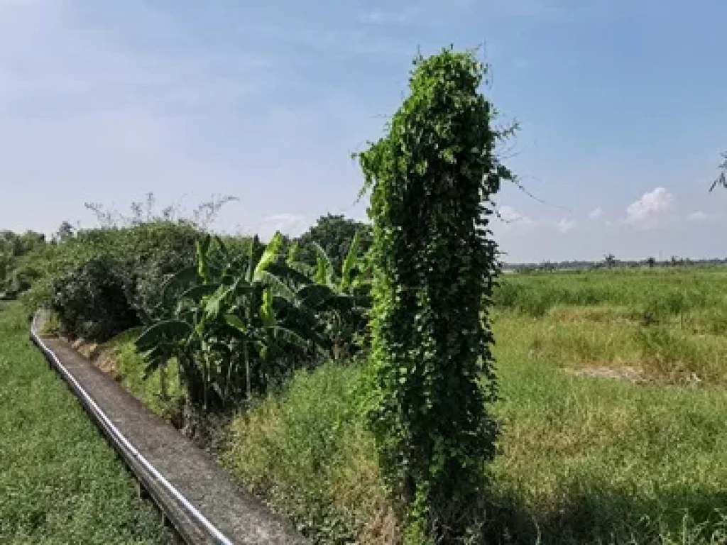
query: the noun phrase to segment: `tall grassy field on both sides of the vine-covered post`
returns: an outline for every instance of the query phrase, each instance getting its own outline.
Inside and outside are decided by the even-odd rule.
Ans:
[[[493,543],[727,544],[727,269],[508,275]],[[567,369],[638,368],[646,384]],[[222,463],[318,543],[393,543],[360,369],[297,374]],[[502,538],[503,526],[509,541]]]

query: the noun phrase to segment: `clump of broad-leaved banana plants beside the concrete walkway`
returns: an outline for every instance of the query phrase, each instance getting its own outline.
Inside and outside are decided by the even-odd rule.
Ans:
[[[356,300],[286,265],[283,236],[255,238],[236,254],[220,238],[196,243],[196,265],[161,286],[157,316],[137,339],[150,371],[174,357],[194,411],[251,400],[292,369],[328,355],[325,318],[342,320]]]

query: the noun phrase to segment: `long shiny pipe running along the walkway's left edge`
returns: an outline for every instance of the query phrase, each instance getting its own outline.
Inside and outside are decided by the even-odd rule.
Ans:
[[[55,352],[50,350],[47,344],[43,342],[43,339],[41,339],[37,331],[37,321],[38,314],[36,313],[36,315],[33,316],[33,322],[31,323],[31,340],[33,341],[33,343],[36,344],[37,347],[41,349],[45,357],[50,362],[52,362],[52,365],[55,366],[57,371],[60,372],[60,374],[63,376],[63,379],[65,379],[68,384],[71,384],[76,393],[82,398],[84,404],[87,406],[89,411],[91,411],[92,416],[94,416],[98,424],[103,427],[108,437],[110,437],[111,440],[116,443],[117,447],[124,448],[124,450],[128,452],[130,456],[138,461],[139,464],[141,464],[142,467],[144,467],[144,469],[148,471],[150,475],[154,477],[154,479],[156,479],[161,487],[164,488],[164,491],[166,491],[166,493],[171,495],[179,502],[180,506],[182,506],[190,519],[194,520],[196,524],[198,524],[201,528],[205,530],[206,533],[209,534],[209,537],[213,540],[212,543],[217,545],[233,545],[233,542],[230,541],[230,539],[222,532],[220,532],[220,530],[215,528],[212,522],[209,522],[204,514],[201,514],[201,512],[199,512],[198,509],[196,509],[196,507],[193,506],[190,501],[185,498],[185,496],[183,496],[180,491],[177,490],[177,488],[174,488],[174,485],[169,483],[169,481],[164,478],[164,475],[161,475],[161,473],[159,473],[157,469],[153,467],[153,465],[150,464],[149,461],[145,459],[144,456],[142,456],[142,454],[137,451],[136,448],[134,448],[134,445],[132,445],[132,443],[129,443],[129,440],[124,437],[119,429],[113,425],[111,419],[106,416],[106,414],[88,394],[88,392],[86,392],[86,390],[81,387],[81,384],[79,384],[79,382],[75,379],[75,377],[73,377],[68,369],[63,366],[63,363],[60,362],[57,355],[55,355]]]

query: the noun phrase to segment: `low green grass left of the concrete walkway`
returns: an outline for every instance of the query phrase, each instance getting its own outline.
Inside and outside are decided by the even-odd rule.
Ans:
[[[24,318],[0,303],[0,543],[171,543]]]

